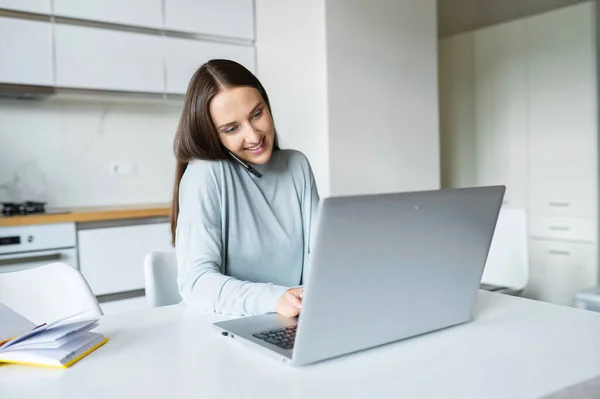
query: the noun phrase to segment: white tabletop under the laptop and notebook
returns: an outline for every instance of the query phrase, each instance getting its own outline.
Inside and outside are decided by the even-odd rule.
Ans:
[[[359,317],[359,315],[357,315]],[[535,398],[600,374],[600,314],[480,291],[473,322],[291,368],[184,306],[105,316],[66,370],[0,367],[0,398]]]

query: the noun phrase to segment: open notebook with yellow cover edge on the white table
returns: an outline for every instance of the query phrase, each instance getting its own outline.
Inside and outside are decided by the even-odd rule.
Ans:
[[[69,318],[36,326],[0,303],[0,364],[66,368],[108,341],[91,331],[98,326],[98,319],[67,321]]]

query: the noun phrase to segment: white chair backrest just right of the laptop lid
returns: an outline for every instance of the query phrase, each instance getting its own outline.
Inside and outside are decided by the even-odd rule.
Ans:
[[[528,281],[527,214],[502,208],[481,282],[521,290]]]

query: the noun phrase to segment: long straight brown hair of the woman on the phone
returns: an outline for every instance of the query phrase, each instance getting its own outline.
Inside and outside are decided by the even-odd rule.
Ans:
[[[254,87],[267,104],[269,97],[260,81],[235,61],[214,59],[203,64],[192,76],[183,104],[183,111],[174,140],[175,182],[171,201],[171,243],[175,246],[177,217],[179,216],[179,184],[190,161],[194,159],[221,160],[230,159],[223,151],[219,133],[210,116],[210,102],[225,88],[238,86]],[[277,132],[273,150],[279,149]]]

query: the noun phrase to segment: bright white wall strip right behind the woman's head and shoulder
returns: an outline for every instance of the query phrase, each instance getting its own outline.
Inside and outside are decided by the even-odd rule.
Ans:
[[[308,157],[329,195],[325,0],[256,1],[257,75],[284,148]]]

